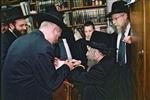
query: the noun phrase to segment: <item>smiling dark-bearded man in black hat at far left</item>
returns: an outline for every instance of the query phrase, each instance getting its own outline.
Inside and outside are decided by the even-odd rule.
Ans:
[[[2,53],[1,64],[3,65],[4,59],[7,55],[8,48],[19,36],[27,33],[26,18],[29,15],[24,16],[20,6],[8,8],[6,11],[6,18],[8,24],[8,30],[2,34]]]

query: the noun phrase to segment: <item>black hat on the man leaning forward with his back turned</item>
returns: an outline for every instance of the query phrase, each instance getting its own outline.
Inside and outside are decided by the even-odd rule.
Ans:
[[[60,28],[64,29],[65,24],[63,22],[63,17],[58,11],[40,12],[37,14],[36,19],[40,25],[43,21],[50,21],[55,23]]]

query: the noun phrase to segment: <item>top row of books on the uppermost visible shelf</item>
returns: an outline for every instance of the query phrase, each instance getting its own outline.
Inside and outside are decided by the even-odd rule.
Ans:
[[[86,6],[104,6],[106,0],[37,0],[30,1],[30,3],[36,2],[38,8],[44,8],[45,5],[54,4],[58,11],[71,10],[79,7]]]

